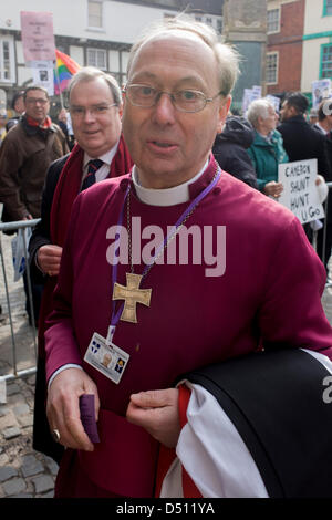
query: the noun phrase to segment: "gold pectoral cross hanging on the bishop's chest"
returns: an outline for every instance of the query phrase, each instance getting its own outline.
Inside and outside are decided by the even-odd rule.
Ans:
[[[124,309],[121,314],[122,321],[128,321],[131,323],[137,323],[136,304],[142,303],[143,305],[149,306],[151,289],[139,289],[142,281],[141,274],[134,274],[126,272],[127,287],[114,283],[113,300],[124,300]]]

